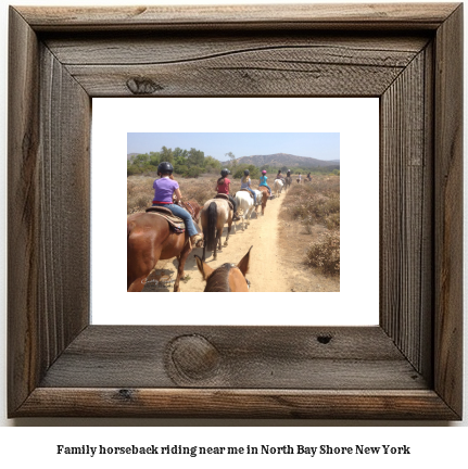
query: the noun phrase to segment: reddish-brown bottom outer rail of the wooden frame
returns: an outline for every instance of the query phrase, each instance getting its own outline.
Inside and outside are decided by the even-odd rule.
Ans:
[[[42,389],[18,416],[454,420],[433,391]]]

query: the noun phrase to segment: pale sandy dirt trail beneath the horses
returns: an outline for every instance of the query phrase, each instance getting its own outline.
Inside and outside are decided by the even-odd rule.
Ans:
[[[286,292],[291,291],[291,283],[287,279],[295,277],[293,269],[288,268],[280,262],[280,250],[278,243],[279,212],[284,194],[269,200],[262,216],[258,210],[258,218],[255,215],[250,220],[249,227],[242,231],[240,221],[236,221],[236,231],[232,226],[229,237],[229,245],[223,246],[217,253],[217,259],[213,261],[213,254],[206,253],[206,263],[213,267],[219,267],[225,263],[237,264],[253,245],[250,257],[250,268],[246,278],[251,281],[252,292]],[[226,240],[227,226],[225,226],[222,242]],[[197,268],[194,255],[202,256],[202,249],[193,250],[186,263],[186,276],[188,280],[180,282],[182,292],[202,292],[205,283]],[[170,280],[167,288],[161,286],[157,279],[174,280],[176,277],[177,259],[160,261],[156,270],[147,281],[143,291],[173,291]],[[291,270],[291,271],[289,271]]]

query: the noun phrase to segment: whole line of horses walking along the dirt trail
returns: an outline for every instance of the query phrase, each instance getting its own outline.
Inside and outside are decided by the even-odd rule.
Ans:
[[[288,185],[288,180],[283,183],[282,180],[276,179],[273,191],[279,197],[283,186],[288,188],[290,185],[291,180]],[[235,197],[242,230],[249,226],[254,212],[258,217],[260,207],[262,207],[262,215],[265,215],[266,203],[269,199],[268,189],[261,186],[254,191],[257,200],[256,205],[248,191],[240,190]],[[181,204],[184,206],[184,203]],[[226,224],[227,236],[224,245],[228,245],[233,218],[232,206],[226,199],[218,198],[210,199],[203,206],[200,206],[195,201],[189,201],[187,205],[195,227],[199,231],[203,231],[203,255],[201,258],[195,256],[195,259],[197,266],[206,281],[204,291],[249,291],[245,274],[249,269],[252,248],[237,265],[228,263],[213,269],[205,263],[206,251],[213,252],[213,259],[217,258],[217,251],[222,249],[222,234]],[[192,245],[187,230],[184,233],[174,232],[168,221],[154,213],[129,215],[127,217],[127,291],[141,292],[147,277],[157,261],[177,257],[178,268],[174,291],[179,292],[180,279],[185,277],[184,267],[191,251]]]

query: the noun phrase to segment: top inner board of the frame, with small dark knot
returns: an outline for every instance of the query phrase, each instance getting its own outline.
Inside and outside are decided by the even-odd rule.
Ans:
[[[91,97],[380,96],[428,35],[104,35],[47,46]],[[124,46],[125,45],[125,46]],[[116,50],[118,53],[116,54]],[[137,84],[137,85],[135,85]],[[140,86],[138,86],[140,84]]]

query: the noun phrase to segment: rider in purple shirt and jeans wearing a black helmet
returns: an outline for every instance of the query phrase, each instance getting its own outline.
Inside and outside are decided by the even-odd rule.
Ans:
[[[180,202],[182,194],[179,185],[173,177],[173,172],[174,168],[170,163],[162,162],[157,166],[157,176],[161,178],[155,179],[153,182],[153,206],[164,206],[169,208],[175,216],[180,217],[186,225],[192,245],[194,248],[202,248],[203,237],[197,231],[191,215],[184,207],[174,203],[174,195],[176,202]]]

